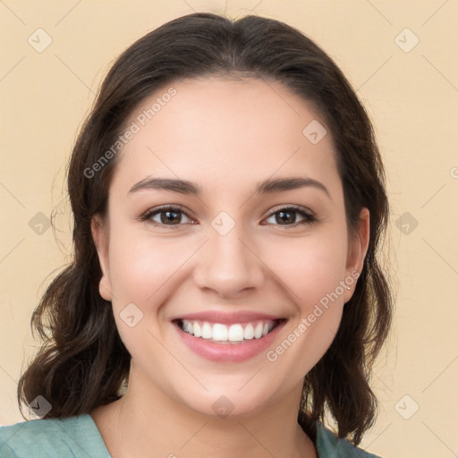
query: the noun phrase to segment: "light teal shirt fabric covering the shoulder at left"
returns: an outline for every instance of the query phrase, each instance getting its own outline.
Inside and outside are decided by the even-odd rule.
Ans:
[[[110,458],[89,414],[65,419],[27,420],[0,428],[2,458]]]

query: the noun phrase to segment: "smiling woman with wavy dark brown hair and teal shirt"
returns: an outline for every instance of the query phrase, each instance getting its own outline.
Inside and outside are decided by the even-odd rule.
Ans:
[[[384,169],[310,38],[208,13],[140,38],[68,190],[74,259],[18,387],[41,420],[1,428],[2,456],[375,456],[357,445],[392,317]]]

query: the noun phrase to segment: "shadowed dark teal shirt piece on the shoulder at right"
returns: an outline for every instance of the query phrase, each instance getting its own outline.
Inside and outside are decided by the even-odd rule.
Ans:
[[[320,422],[317,422],[317,451],[318,458],[327,456],[333,458],[381,458],[376,454],[365,452],[342,437],[337,437],[333,431],[325,428]]]

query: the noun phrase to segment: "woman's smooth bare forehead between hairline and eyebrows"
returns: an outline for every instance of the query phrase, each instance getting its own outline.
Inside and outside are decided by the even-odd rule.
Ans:
[[[321,136],[325,122],[277,81],[175,81],[145,98],[126,125],[135,133],[114,174],[123,187],[155,174],[231,189],[272,175],[336,174],[330,131],[318,142],[306,135],[311,125]]]

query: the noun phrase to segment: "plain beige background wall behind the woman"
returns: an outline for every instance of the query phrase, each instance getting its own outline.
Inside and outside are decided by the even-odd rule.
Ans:
[[[1,1],[0,424],[22,420],[16,385],[37,345],[30,316],[47,275],[68,260],[64,169],[98,84],[124,47],[192,11],[286,21],[358,90],[386,163],[397,289],[373,380],[381,410],[361,446],[386,457],[457,456],[456,0]],[[52,38],[42,52],[28,42],[46,43],[39,28]],[[55,208],[57,233],[46,225]]]

